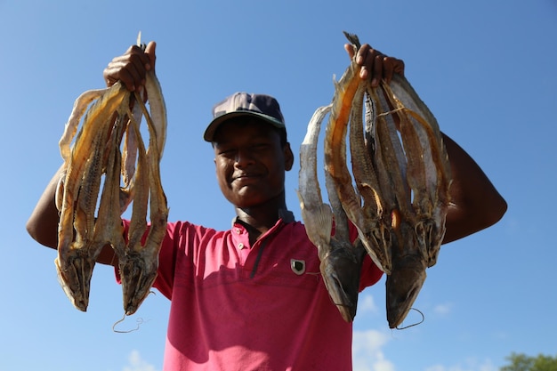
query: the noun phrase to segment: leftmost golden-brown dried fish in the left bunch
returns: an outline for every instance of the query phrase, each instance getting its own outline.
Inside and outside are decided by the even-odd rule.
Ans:
[[[90,281],[102,246],[93,244],[94,210],[101,186],[101,173],[106,167],[106,143],[112,132],[115,112],[129,93],[121,84],[101,93],[87,110],[81,131],[65,161],[66,174],[59,182],[60,222],[58,228],[58,257],[55,260],[61,286],[77,309],[85,311],[89,302]],[[82,94],[82,97],[91,95]],[[125,105],[126,103],[124,103]],[[76,103],[75,107],[83,104]],[[70,118],[75,117],[72,114]],[[77,122],[79,121],[77,118]],[[73,123],[66,125],[61,140],[62,157],[67,132],[75,132]]]

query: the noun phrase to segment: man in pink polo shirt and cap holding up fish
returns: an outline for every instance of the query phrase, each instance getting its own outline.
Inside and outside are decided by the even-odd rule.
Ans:
[[[155,44],[132,46],[104,71],[140,89],[155,67]],[[352,50],[346,45],[349,56]],[[358,52],[360,77],[377,85],[404,73],[402,60],[368,44]],[[169,222],[157,289],[169,298],[165,370],[350,370],[351,324],[343,321],[319,277],[317,249],[287,210],[285,173],[295,157],[278,102],[236,93],[214,107],[204,139],[214,148],[222,194],[235,207],[230,230]],[[451,162],[452,204],[444,243],[487,228],[506,203],[463,149],[444,137]],[[57,173],[28,221],[30,235],[57,246]],[[127,228],[128,222],[124,221]],[[99,262],[117,266],[110,246]],[[360,288],[381,272],[367,257]]]

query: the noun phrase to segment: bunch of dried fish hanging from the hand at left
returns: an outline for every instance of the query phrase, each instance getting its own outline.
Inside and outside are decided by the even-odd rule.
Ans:
[[[112,246],[117,255],[126,315],[137,311],[157,277],[168,208],[159,172],[166,110],[154,71],[147,73],[143,92],[147,95],[131,93],[118,82],[81,94],[61,137],[65,173],[56,194],[55,264],[62,288],[81,311],[87,309],[93,267],[103,246]],[[147,149],[142,117],[149,130]],[[125,238],[121,215],[132,202]]]

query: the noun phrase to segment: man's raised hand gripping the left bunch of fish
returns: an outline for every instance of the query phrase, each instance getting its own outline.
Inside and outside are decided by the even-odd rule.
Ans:
[[[155,47],[154,41],[149,42],[145,51],[140,46],[132,45],[119,57],[111,60],[102,75],[108,86],[122,81],[125,87],[133,92],[145,85],[145,74],[149,70],[155,70]]]

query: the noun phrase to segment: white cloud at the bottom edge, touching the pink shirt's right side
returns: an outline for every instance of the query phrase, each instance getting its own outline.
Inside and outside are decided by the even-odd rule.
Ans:
[[[354,331],[353,371],[394,371],[394,364],[384,358],[382,351],[388,340],[387,335],[376,330]]]

